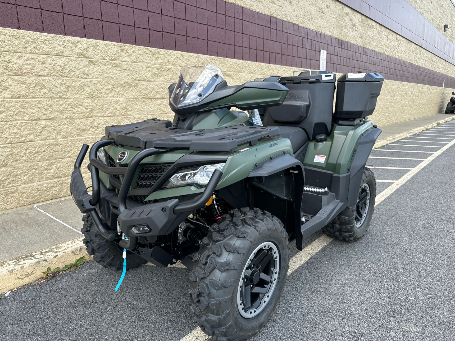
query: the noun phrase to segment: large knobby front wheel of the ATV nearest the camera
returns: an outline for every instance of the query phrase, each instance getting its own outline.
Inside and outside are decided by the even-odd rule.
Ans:
[[[277,217],[257,208],[230,211],[220,221],[193,258],[190,309],[207,335],[245,340],[269,320],[283,292],[288,234]]]

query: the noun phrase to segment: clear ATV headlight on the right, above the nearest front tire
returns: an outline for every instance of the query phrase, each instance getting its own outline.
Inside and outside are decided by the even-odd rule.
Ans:
[[[208,181],[212,177],[213,172],[217,169],[222,171],[226,163],[217,163],[216,165],[203,165],[193,168],[183,169],[179,173],[174,174],[169,179],[164,188],[172,188],[179,186],[207,186]]]

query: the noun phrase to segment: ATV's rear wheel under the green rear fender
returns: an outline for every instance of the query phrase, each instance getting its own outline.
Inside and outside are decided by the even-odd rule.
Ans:
[[[358,241],[364,236],[373,216],[376,200],[376,179],[367,167],[364,168],[360,182],[359,196],[363,196],[364,193],[367,193],[365,204],[368,202],[365,211],[358,207],[358,198],[356,205],[346,207],[329,225],[323,227],[322,231],[327,236],[348,242]]]

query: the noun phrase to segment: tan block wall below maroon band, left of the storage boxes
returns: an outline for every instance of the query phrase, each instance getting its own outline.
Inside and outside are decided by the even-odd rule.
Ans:
[[[167,87],[185,64],[208,63],[232,85],[293,70],[0,28],[0,211],[68,196],[83,143],[106,125],[172,119]]]

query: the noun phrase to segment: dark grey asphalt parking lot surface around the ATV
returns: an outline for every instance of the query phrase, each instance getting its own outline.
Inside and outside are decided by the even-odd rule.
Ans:
[[[369,231],[303,261],[250,340],[453,340],[453,141],[452,121],[373,150],[367,166],[382,201]],[[299,256],[294,243],[290,249]],[[89,261],[10,292],[0,299],[0,339],[209,340],[192,320],[185,268],[132,269],[115,292],[119,277]]]

